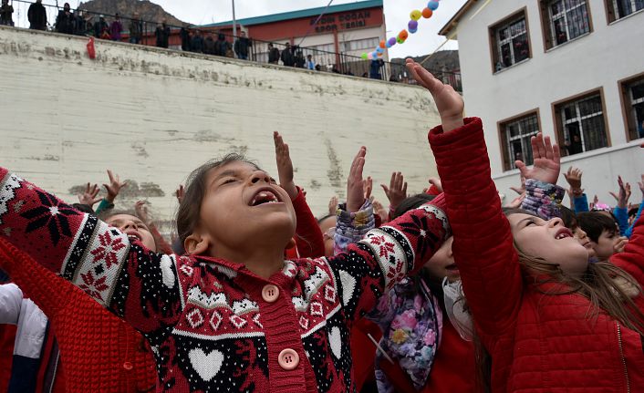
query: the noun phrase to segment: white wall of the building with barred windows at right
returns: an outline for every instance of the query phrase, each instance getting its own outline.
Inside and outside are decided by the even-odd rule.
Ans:
[[[621,174],[633,183],[644,171],[644,151],[639,143],[627,144],[622,118],[618,80],[644,72],[644,13],[607,24],[603,1],[588,1],[593,32],[545,52],[543,31],[536,0],[495,0],[474,5],[458,25],[463,97],[471,116],[483,119],[492,161],[493,178],[502,192],[519,181],[517,171],[503,171],[497,121],[532,109],[539,109],[542,130],[555,136],[552,103],[595,88],[604,89],[611,148],[588,151],[566,158],[565,167],[576,165],[585,171],[587,191],[612,203],[610,188],[617,187]],[[489,26],[526,7],[532,58],[493,75]],[[563,177],[561,179],[564,180]],[[565,184],[565,183],[564,183]],[[636,184],[633,184],[636,186]],[[639,191],[634,202],[639,202]]]

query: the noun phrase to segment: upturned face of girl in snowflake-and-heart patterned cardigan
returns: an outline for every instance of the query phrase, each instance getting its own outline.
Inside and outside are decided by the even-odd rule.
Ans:
[[[284,251],[296,231],[296,213],[286,191],[268,173],[233,161],[209,171],[205,181],[195,232],[208,241],[211,256],[263,245]]]

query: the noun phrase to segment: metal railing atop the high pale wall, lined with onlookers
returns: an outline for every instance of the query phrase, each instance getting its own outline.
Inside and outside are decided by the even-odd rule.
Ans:
[[[28,22],[26,19],[27,10],[28,7],[34,2],[26,0],[13,0],[11,3],[12,5],[14,5],[15,9],[14,20],[16,26],[28,27]],[[58,5],[43,5],[47,10],[47,30],[57,31],[57,26],[55,26],[55,24],[58,11],[62,10],[63,8]],[[78,9],[70,9],[70,12],[73,13],[74,19],[77,21],[73,34],[78,36],[96,36],[95,29],[93,27],[94,24],[99,21],[100,15],[105,16],[106,22],[107,19],[111,21],[115,18],[115,16],[105,13],[99,14]],[[82,21],[80,21],[80,18],[82,18]],[[130,26],[130,21],[132,20],[135,19],[132,19],[130,16],[120,16],[120,21],[123,26],[123,31],[121,32],[122,35],[120,37],[121,41],[129,41],[130,36],[128,32],[128,26]],[[142,33],[140,44],[149,46],[157,45],[155,31],[157,29],[157,26],[161,25],[160,21],[138,19],[138,23],[140,23]],[[234,43],[241,38],[240,36],[223,34],[221,31],[218,31],[216,27],[188,27],[172,25],[166,26],[170,27],[171,29],[171,36],[169,37],[168,43],[168,47],[170,47],[171,49],[192,49],[192,51],[204,53],[206,55],[226,56],[226,54],[224,53],[212,53],[212,50],[209,50],[209,48],[212,49],[212,44],[206,47],[203,47],[203,45],[197,45],[197,48],[186,47],[184,45],[185,43],[182,43],[182,37],[180,36],[180,32],[183,28],[187,29],[192,36],[194,36],[196,32],[199,32],[199,35],[203,37],[203,43],[205,43],[206,39],[209,39],[209,37],[216,42],[217,38],[219,36],[222,36],[223,40],[227,43],[227,47],[230,47],[232,49],[232,53],[228,53],[228,56],[240,57],[240,54],[234,53]],[[390,82],[400,82],[410,85],[416,84],[416,81],[413,78],[409,77],[409,75],[407,74],[407,69],[402,63],[388,62],[383,60],[365,60],[357,56],[359,52],[369,52],[373,50],[373,48],[371,47],[364,48],[362,50],[354,50],[352,51],[353,54],[351,54],[342,52],[329,52],[326,50],[318,49],[317,47],[298,47],[286,45],[285,43],[279,42],[269,42],[253,38],[248,39],[252,43],[248,48],[248,57],[246,58],[249,61],[267,63],[269,59],[268,48],[270,45],[276,48],[280,54],[280,59],[276,64],[301,68],[312,67],[313,70],[320,72],[332,72],[363,78],[382,79]],[[197,42],[197,44],[199,43]],[[285,50],[290,51],[290,55],[282,57],[282,54]],[[443,83],[452,85],[452,87],[457,91],[462,91],[461,74],[459,72],[431,69],[430,71]]]

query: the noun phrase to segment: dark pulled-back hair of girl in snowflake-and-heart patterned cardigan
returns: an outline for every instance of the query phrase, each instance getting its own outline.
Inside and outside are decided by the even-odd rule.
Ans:
[[[220,160],[215,159],[204,163],[188,176],[185,181],[185,194],[177,212],[177,234],[182,244],[185,243],[186,238],[191,235],[199,222],[199,213],[202,210],[203,197],[206,194],[208,172],[234,161],[242,161],[253,165],[257,170],[260,169],[256,163],[246,159],[244,155],[230,153]]]

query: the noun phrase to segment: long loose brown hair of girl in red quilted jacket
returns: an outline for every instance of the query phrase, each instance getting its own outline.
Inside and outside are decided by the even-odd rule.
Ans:
[[[512,214],[535,214],[522,209],[504,208],[505,216]],[[589,263],[585,274],[573,276],[566,274],[559,264],[552,264],[535,255],[528,255],[514,243],[519,255],[525,281],[535,284],[544,295],[581,295],[588,299],[590,307],[587,317],[597,318],[605,312],[622,326],[628,327],[644,336],[644,314],[633,301],[642,294],[639,283],[626,271],[608,263]],[[551,289],[542,289],[545,284]],[[554,289],[552,289],[554,288]],[[474,349],[477,366],[477,385],[485,392],[491,391],[492,357],[481,343],[474,329]]]

